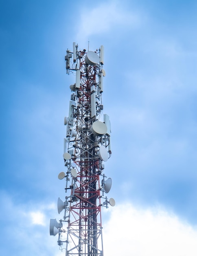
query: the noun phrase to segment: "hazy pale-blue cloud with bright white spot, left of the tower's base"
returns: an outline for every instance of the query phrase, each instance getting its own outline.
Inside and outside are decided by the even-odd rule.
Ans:
[[[26,202],[21,204],[0,191],[3,206],[0,219],[4,239],[0,241],[0,255],[62,255],[56,238],[49,234],[50,218],[56,217],[55,202]],[[11,246],[7,246],[10,245]],[[35,246],[36,245],[36,246]]]

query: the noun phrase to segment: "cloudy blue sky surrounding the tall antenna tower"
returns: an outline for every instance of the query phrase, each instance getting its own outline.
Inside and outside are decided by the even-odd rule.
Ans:
[[[104,255],[197,254],[197,2],[0,2],[0,254],[62,256],[49,235],[65,197],[72,42],[105,47],[112,125]]]

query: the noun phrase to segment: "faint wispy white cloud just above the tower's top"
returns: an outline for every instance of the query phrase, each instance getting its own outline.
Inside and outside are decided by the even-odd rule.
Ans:
[[[78,27],[77,40],[88,39],[89,36],[106,33],[118,26],[138,27],[141,17],[137,11],[131,12],[123,7],[119,1],[106,1],[93,9],[87,6],[81,10],[80,27]]]

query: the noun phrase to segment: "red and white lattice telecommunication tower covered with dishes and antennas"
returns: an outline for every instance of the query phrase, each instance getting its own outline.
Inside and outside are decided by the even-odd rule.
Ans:
[[[58,213],[64,210],[64,215],[59,222],[50,219],[50,235],[58,234],[57,243],[66,249],[66,256],[103,256],[101,207],[115,205],[114,199],[105,195],[112,179],[103,173],[103,162],[111,156],[110,120],[103,114],[101,97],[103,54],[103,45],[86,52],[73,43],[73,51],[67,49],[65,56],[67,74],[76,74],[70,85],[69,114],[64,118],[66,172],[58,175],[66,181],[66,200],[58,198]]]

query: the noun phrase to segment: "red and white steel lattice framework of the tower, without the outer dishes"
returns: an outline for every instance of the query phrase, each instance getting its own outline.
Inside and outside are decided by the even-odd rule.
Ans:
[[[101,190],[99,189],[101,159],[98,159],[96,154],[98,142],[91,131],[92,124],[96,121],[96,117],[91,117],[91,87],[96,85],[96,89],[99,89],[96,76],[99,75],[100,68],[87,65],[83,56],[80,59],[80,70],[81,87],[75,94],[77,109],[73,112],[77,136],[72,144],[74,162],[78,166],[74,192],[71,191],[76,202],[70,200],[67,236],[67,241],[72,240],[73,247],[68,249],[67,243],[66,256],[76,254],[102,256]],[[98,106],[97,112],[100,112]]]

